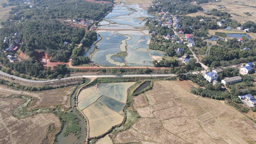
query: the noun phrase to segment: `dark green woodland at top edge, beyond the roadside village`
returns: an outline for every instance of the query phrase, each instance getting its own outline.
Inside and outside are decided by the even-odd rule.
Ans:
[[[188,14],[197,11],[202,11],[203,8],[200,5],[191,4],[190,1],[179,0],[156,0],[153,7],[148,8],[148,12],[170,12],[172,14]]]

